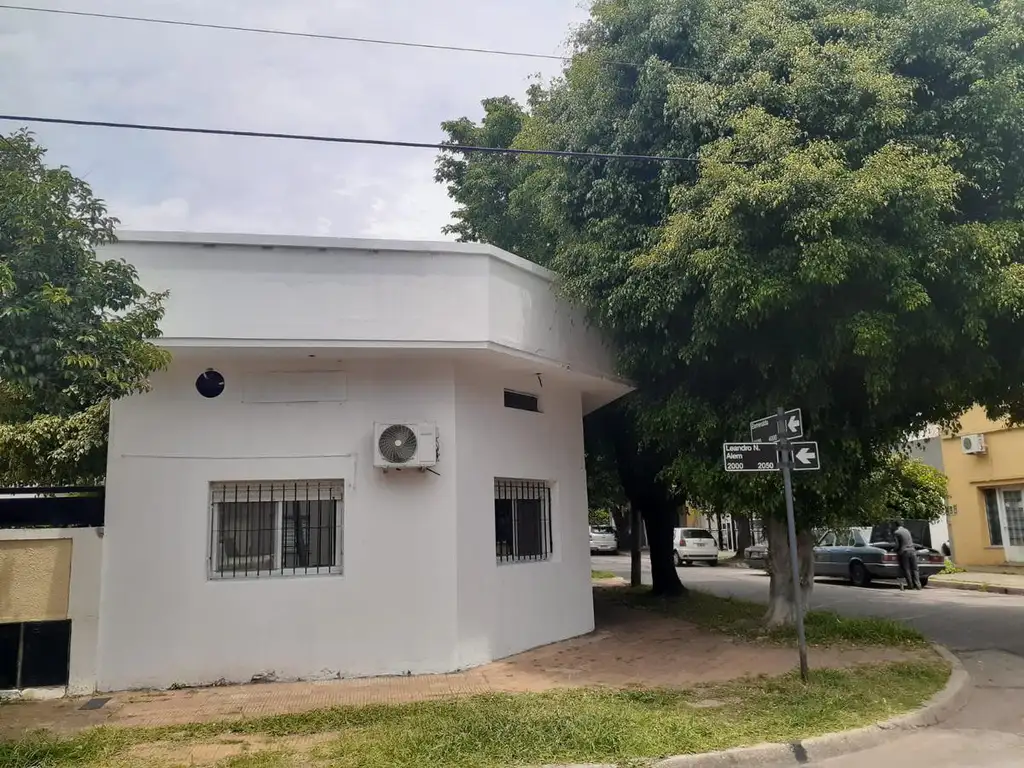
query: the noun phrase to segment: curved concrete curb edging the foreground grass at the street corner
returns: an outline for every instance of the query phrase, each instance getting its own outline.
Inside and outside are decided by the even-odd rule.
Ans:
[[[935,651],[950,666],[951,673],[945,688],[932,696],[920,710],[882,723],[855,728],[850,731],[826,733],[788,744],[766,743],[755,746],[737,746],[725,752],[703,755],[677,755],[655,761],[652,768],[740,768],[771,765],[774,768],[803,766],[811,761],[862,752],[878,746],[892,738],[892,731],[927,728],[951,717],[967,703],[971,696],[971,677],[961,660],[943,648],[933,645]],[[556,768],[546,766],[545,768]],[[561,768],[614,768],[612,765],[573,765]]]

